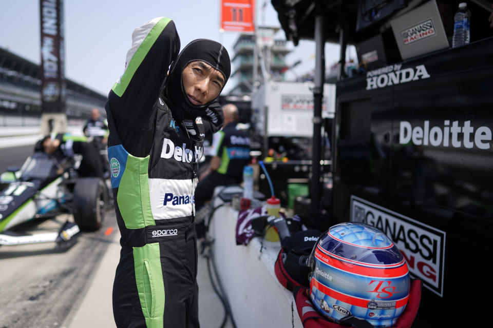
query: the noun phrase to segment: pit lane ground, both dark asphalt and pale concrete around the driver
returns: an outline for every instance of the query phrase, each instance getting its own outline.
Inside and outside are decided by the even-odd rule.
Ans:
[[[1,127],[3,157],[15,160],[9,155],[15,152],[16,160],[23,161],[41,138],[37,132],[32,127]],[[58,224],[53,221],[65,219],[72,220],[69,215],[59,216],[30,227],[31,233],[56,231]],[[81,234],[78,243],[66,252],[53,250],[54,243],[0,248],[0,267],[4,268],[0,270],[0,328],[114,327],[111,291],[120,255],[119,238],[111,209],[100,231]],[[224,310],[209,281],[206,260],[201,256],[197,282],[200,324],[202,328],[216,328],[222,322]],[[232,327],[230,321],[226,327]]]

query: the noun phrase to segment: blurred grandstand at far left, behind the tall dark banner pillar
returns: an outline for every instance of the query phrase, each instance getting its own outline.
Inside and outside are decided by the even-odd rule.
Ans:
[[[41,122],[41,69],[38,64],[0,47],[0,126],[35,126]],[[103,111],[107,96],[65,78],[68,120]]]

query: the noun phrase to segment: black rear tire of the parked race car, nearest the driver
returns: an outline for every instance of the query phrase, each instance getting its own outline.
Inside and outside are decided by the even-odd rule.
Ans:
[[[79,178],[73,189],[73,220],[83,231],[101,228],[106,187],[100,178]]]

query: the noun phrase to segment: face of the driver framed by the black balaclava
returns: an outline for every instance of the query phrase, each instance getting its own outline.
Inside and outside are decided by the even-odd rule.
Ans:
[[[224,87],[224,77],[204,61],[189,63],[182,73],[183,88],[188,100],[194,105],[205,105],[216,99]]]

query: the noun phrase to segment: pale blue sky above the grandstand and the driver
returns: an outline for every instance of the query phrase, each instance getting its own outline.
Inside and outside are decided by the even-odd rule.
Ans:
[[[39,64],[40,1],[0,0],[0,5],[0,47]],[[233,57],[238,33],[219,33],[219,6],[219,0],[65,0],[65,76],[107,94],[123,72],[132,31],[159,16],[175,21],[182,47],[196,38],[210,38],[221,42]],[[280,26],[270,0],[257,0],[257,17],[258,24]],[[276,38],[285,38],[282,30]],[[297,47],[291,42],[288,46],[293,52],[287,63],[302,60],[297,75],[313,70],[314,42],[301,40]],[[327,44],[327,66],[337,60],[338,46]],[[231,87],[226,85],[225,91]]]

